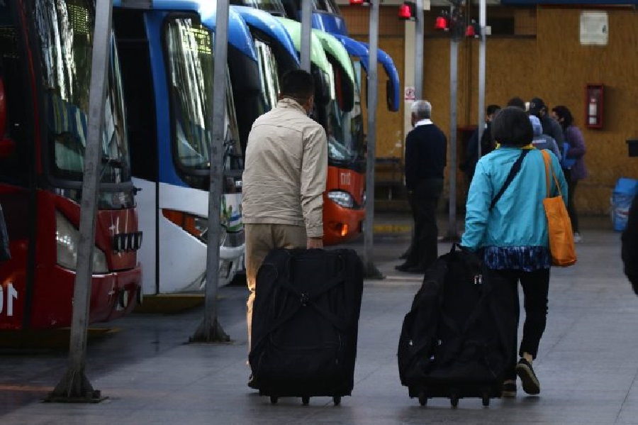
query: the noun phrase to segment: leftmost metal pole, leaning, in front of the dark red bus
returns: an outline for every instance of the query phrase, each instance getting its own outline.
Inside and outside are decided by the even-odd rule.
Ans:
[[[80,206],[77,266],[73,291],[73,316],[69,341],[69,368],[47,398],[52,402],[99,402],[99,390],[94,390],[84,374],[86,367],[86,330],[89,324],[93,249],[99,194],[101,140],[104,128],[108,60],[111,54],[111,0],[96,1],[96,17],[91,57],[89,87],[89,122],[86,129],[82,204]]]

